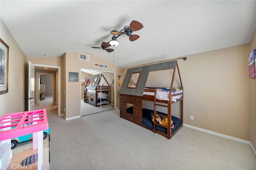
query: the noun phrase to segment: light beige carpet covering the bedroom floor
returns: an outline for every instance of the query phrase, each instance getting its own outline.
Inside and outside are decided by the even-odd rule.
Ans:
[[[247,144],[182,127],[170,140],[126,121],[119,109],[65,121],[46,108],[51,131],[50,170],[249,170]]]

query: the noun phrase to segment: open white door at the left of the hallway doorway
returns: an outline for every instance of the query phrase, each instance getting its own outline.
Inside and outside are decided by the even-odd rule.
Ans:
[[[35,103],[35,66],[28,62],[28,111],[34,110]]]

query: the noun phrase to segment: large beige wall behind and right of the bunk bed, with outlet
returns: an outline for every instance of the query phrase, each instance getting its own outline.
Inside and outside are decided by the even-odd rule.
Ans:
[[[250,140],[248,51],[249,44],[245,44],[188,55],[185,61],[178,59],[184,87],[185,124]],[[168,81],[158,87],[168,87],[170,77],[158,76],[159,82]],[[156,79],[151,80],[155,86]],[[174,115],[175,112],[174,108]],[[194,116],[193,121],[190,115]]]

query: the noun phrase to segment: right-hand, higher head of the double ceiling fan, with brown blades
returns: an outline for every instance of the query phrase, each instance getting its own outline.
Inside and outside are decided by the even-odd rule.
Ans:
[[[129,40],[131,42],[137,40],[138,38],[140,38],[140,36],[136,35],[136,34],[132,34],[134,31],[138,31],[140,29],[143,28],[143,25],[138,22],[138,21],[135,21],[133,20],[131,23],[130,23],[130,26],[124,26],[124,29],[122,29],[121,31],[116,31],[116,30],[113,30],[111,32],[111,34],[113,36],[115,36],[115,38],[118,38],[119,36],[121,36],[122,34],[126,34],[126,36],[129,36]]]

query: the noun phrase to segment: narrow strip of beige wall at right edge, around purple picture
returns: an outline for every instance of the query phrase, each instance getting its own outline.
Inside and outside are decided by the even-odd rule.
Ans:
[[[250,51],[256,49],[256,30],[250,43]],[[250,79],[250,141],[256,148],[256,80]]]

